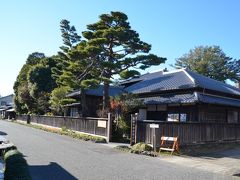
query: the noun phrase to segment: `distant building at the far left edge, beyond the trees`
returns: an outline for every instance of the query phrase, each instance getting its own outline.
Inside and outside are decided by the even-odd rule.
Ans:
[[[15,109],[13,102],[13,94],[0,97],[0,116],[2,119],[15,118]]]

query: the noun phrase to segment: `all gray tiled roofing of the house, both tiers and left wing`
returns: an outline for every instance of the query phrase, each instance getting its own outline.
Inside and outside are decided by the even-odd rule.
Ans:
[[[231,85],[225,84],[213,80],[211,78],[202,76],[200,74],[188,71],[188,70],[177,70],[175,72],[156,72],[142,75],[132,80],[127,80],[122,82],[122,85],[133,83],[135,84],[126,87],[114,87],[110,86],[109,94],[110,96],[116,96],[123,92],[130,92],[134,94],[159,92],[165,90],[175,90],[175,89],[189,89],[193,87],[201,87],[209,90],[215,90],[219,92],[224,92],[228,94],[239,95],[240,89],[237,89]],[[72,97],[80,94],[79,90],[73,91],[68,94],[68,97]],[[88,95],[103,96],[103,85],[100,85],[96,89],[88,89],[86,91]],[[165,94],[155,97],[142,98],[146,104],[175,104],[175,103],[211,103],[211,104],[222,104],[240,107],[240,99],[231,99],[227,97],[219,97],[202,93],[185,93],[185,94]]]

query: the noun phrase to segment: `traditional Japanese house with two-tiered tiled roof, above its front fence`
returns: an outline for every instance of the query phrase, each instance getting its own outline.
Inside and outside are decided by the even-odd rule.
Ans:
[[[240,122],[240,89],[181,69],[155,72],[121,83],[146,104],[142,120]]]

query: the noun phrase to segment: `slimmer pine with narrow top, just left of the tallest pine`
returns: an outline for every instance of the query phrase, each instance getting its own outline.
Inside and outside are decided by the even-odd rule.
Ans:
[[[68,92],[81,89],[82,115],[84,116],[87,113],[85,88],[89,88],[98,83],[92,80],[93,76],[98,76],[91,63],[95,56],[90,48],[86,50],[86,42],[81,40],[75,27],[71,26],[69,21],[62,20],[60,27],[64,45],[60,47],[62,51],[58,53],[59,61],[57,67],[53,68],[53,73],[58,84],[56,90],[58,91],[64,87],[67,87]],[[61,102],[61,99],[59,99],[59,101]],[[52,104],[52,106],[54,106],[54,104]]]

